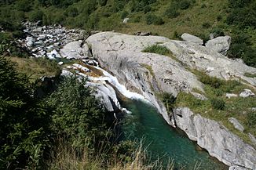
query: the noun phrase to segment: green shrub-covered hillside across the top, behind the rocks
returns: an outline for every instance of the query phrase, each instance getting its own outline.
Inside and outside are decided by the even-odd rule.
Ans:
[[[256,67],[256,3],[252,0],[12,0],[0,2],[0,9],[0,26],[15,36],[20,35],[23,20],[128,34],[154,31],[167,38],[187,32],[204,42],[210,33],[229,34],[229,57]],[[130,21],[122,24],[125,17]]]

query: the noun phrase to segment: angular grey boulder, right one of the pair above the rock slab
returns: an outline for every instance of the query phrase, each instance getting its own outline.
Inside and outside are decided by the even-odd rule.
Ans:
[[[213,38],[206,43],[207,48],[212,49],[216,52],[220,52],[223,55],[227,54],[230,45],[231,45],[231,37],[229,36],[221,36],[218,38]]]

